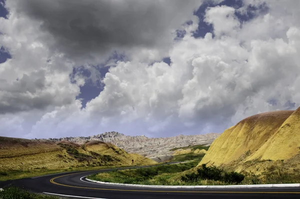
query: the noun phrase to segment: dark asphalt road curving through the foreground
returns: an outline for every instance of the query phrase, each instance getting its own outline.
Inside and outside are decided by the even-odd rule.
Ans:
[[[145,167],[145,166],[138,166]],[[84,181],[89,174],[109,171],[73,171],[13,181],[0,182],[0,187],[14,184],[34,192],[79,196],[78,198],[300,198],[300,188],[145,188],[97,184]],[[81,180],[80,178],[83,177]],[[76,198],[76,197],[72,197]]]

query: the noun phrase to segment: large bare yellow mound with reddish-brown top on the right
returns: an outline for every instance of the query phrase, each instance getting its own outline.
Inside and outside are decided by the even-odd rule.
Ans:
[[[270,165],[297,169],[300,163],[300,107],[247,117],[226,129],[199,163],[261,172]]]

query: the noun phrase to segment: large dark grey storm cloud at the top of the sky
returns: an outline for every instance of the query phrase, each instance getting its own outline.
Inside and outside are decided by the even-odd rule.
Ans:
[[[48,44],[70,58],[114,49],[165,47],[171,31],[189,19],[194,0],[18,0],[16,12],[42,21]],[[97,54],[97,55],[96,55]]]

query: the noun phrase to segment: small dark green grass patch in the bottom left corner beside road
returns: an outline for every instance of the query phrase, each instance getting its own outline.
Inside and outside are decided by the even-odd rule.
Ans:
[[[3,199],[59,199],[56,196],[32,193],[15,186],[8,186],[0,191],[0,198]]]

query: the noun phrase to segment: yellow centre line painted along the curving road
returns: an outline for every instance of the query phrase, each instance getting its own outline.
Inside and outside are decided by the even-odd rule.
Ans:
[[[88,172],[88,171],[84,171]],[[83,172],[80,172],[83,173]],[[64,177],[67,175],[73,175],[73,174],[78,174],[78,173],[71,173],[71,174],[66,174],[66,175],[60,175],[57,177],[53,177],[50,179],[50,182],[56,185],[60,186],[67,186],[67,187],[73,187],[73,188],[86,188],[86,189],[96,189],[96,190],[113,190],[113,191],[139,191],[139,192],[175,192],[175,193],[290,193],[290,194],[299,194],[300,192],[272,192],[272,191],[183,191],[183,190],[134,190],[134,189],[115,189],[115,188],[93,188],[93,187],[84,187],[84,186],[73,186],[73,185],[67,185],[67,184],[61,184],[58,182],[55,182],[54,179],[57,179],[59,177]]]

